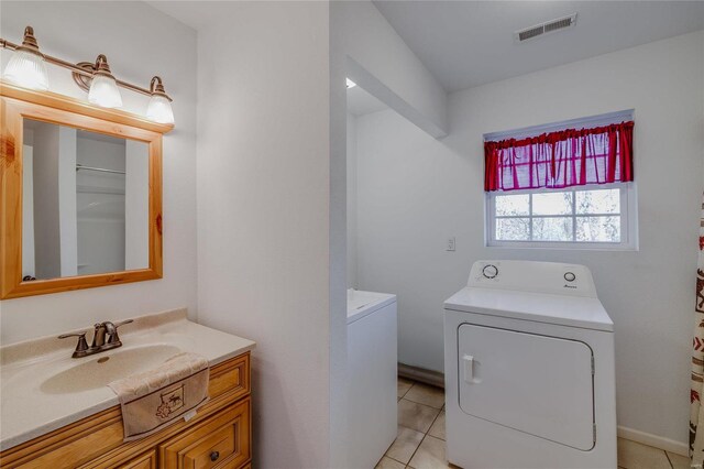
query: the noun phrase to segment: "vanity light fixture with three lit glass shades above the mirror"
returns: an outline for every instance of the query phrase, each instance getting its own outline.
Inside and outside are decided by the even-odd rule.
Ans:
[[[45,63],[50,63],[69,69],[76,84],[88,91],[88,101],[94,105],[105,108],[121,107],[122,97],[118,87],[122,87],[150,97],[147,119],[160,123],[174,123],[172,99],[164,91],[164,85],[160,77],[152,78],[150,89],[146,89],[117,79],[110,70],[108,58],[102,54],[98,55],[95,63],[79,62],[78,64],[42,54],[32,26],[25,28],[21,45],[0,37],[0,47],[14,52],[14,56],[10,59],[3,74],[3,78],[14,85],[47,90],[48,77]]]

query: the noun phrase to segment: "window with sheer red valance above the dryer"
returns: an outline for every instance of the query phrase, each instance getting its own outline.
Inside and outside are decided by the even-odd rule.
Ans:
[[[626,112],[485,135],[487,246],[636,249]]]

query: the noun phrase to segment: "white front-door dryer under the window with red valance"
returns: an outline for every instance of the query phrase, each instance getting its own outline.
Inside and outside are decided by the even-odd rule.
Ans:
[[[584,265],[477,261],[444,303],[447,457],[616,468],[614,324]]]

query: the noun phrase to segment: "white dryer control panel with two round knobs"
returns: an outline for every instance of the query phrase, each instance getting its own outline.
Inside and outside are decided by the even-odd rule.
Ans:
[[[476,261],[468,286],[596,298],[588,268],[558,262]]]

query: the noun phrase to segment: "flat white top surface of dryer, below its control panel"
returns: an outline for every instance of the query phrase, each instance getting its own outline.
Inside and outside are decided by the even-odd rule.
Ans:
[[[614,330],[614,323],[602,303],[594,297],[465,286],[446,301],[444,308],[585,329]]]

